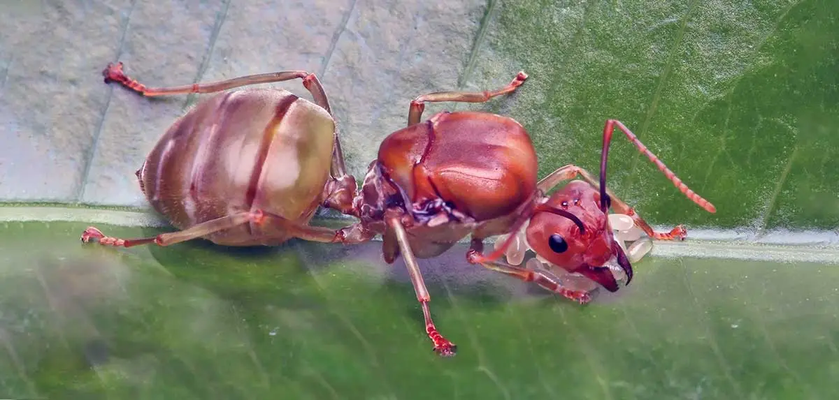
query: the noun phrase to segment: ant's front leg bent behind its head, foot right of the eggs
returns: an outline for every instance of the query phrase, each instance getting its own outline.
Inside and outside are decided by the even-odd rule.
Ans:
[[[559,185],[560,182],[568,181],[574,179],[575,177],[582,177],[582,179],[588,182],[592,187],[600,189],[600,182],[591,175],[591,172],[573,164],[568,164],[565,167],[560,167],[556,171],[551,172],[547,177],[542,178],[539,183],[537,183],[537,187],[542,192],[548,192],[550,189]],[[684,239],[685,236],[687,236],[687,230],[685,230],[685,227],[682,225],[673,228],[670,232],[655,232],[653,228],[644,221],[644,218],[641,218],[638,216],[638,213],[635,213],[634,208],[630,207],[627,203],[623,203],[623,200],[615,196],[615,193],[613,193],[608,187],[606,188],[606,193],[612,199],[612,208],[618,213],[627,214],[631,217],[635,224],[638,225],[638,228],[643,229],[644,233],[647,233],[650,238],[654,238],[656,240],[674,240],[676,238]]]

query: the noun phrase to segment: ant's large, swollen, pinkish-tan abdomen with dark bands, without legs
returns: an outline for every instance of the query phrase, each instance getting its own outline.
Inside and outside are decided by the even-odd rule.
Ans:
[[[308,221],[328,177],[333,131],[326,110],[287,91],[221,93],[169,128],[140,179],[176,228],[254,208]],[[211,240],[250,244],[265,233],[277,234],[244,225]]]

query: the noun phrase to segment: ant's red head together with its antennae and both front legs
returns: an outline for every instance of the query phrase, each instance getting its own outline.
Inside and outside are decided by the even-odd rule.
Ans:
[[[612,269],[607,264],[615,262],[620,269],[623,269],[625,284],[628,284],[633,278],[633,269],[628,256],[625,254],[623,246],[614,237],[608,218],[609,208],[631,218],[634,225],[643,230],[649,238],[655,240],[683,240],[687,235],[684,226],[676,226],[670,232],[655,232],[644,221],[644,218],[638,216],[634,208],[624,203],[607,188],[608,150],[612,141],[612,132],[616,126],[638,147],[639,151],[654,162],[661,172],[664,172],[664,175],[670,179],[670,182],[673,182],[680,192],[707,212],[717,212],[717,208],[713,204],[690,190],[622,122],[608,120],[603,129],[599,182],[597,178],[591,175],[591,172],[573,164],[551,172],[537,185],[539,190],[537,203],[539,206],[530,215],[524,230],[519,227],[505,235],[507,238],[503,240],[503,244],[498,246],[498,249],[489,256],[480,259],[480,256],[473,252],[468,255],[470,260],[482,262],[487,268],[511,274],[525,281],[534,281],[537,285],[564,295],[571,300],[587,303],[591,300],[590,293],[587,290],[575,290],[569,285],[564,285],[564,281],[573,280],[573,276],[565,273],[585,276],[612,292],[618,290],[618,280],[615,279]],[[550,197],[544,195],[544,193],[559,186],[561,182],[576,177],[581,177],[582,180],[568,182]],[[562,215],[562,218],[560,218],[555,213],[557,209],[568,214]],[[560,278],[560,274],[551,274],[535,268],[521,268],[495,261],[516,240],[524,242],[526,247],[533,249],[539,259],[544,260],[549,267],[561,269],[562,277]],[[517,254],[517,261],[520,262],[521,259],[522,254]]]

